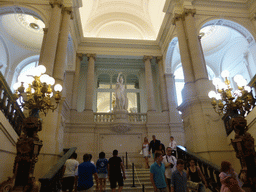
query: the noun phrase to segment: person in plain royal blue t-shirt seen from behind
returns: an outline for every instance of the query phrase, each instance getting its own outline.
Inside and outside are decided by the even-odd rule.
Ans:
[[[98,174],[95,165],[90,163],[90,155],[84,154],[84,162],[78,166],[78,186],[80,192],[93,192],[93,178],[96,181],[96,190],[98,190]]]

